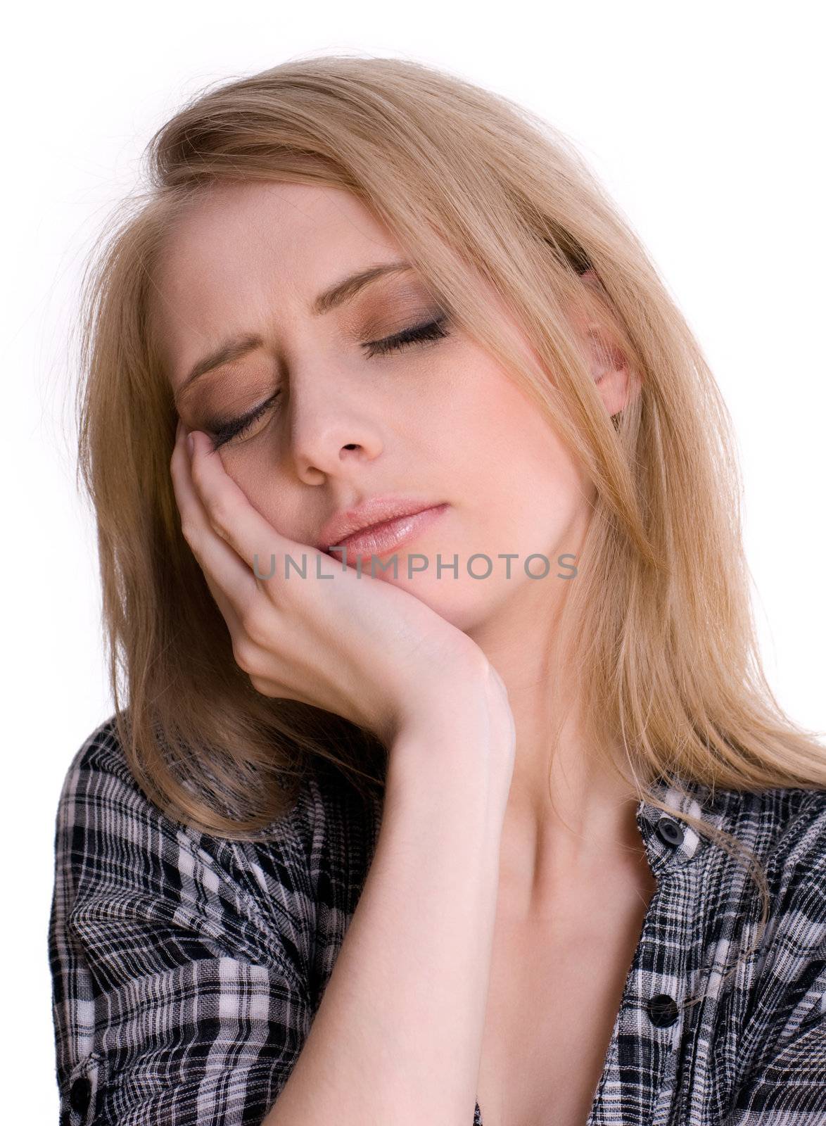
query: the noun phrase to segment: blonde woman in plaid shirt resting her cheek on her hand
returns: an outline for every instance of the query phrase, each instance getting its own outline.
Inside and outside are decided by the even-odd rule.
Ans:
[[[57,811],[63,1120],[820,1120],[824,749],[639,241],[405,60],[149,155],[84,319],[116,712]]]

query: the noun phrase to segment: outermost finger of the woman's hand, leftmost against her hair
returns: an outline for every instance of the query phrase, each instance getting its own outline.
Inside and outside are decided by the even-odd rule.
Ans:
[[[192,482],[186,439],[186,427],[179,421],[170,473],[181,515],[181,529],[231,633],[237,636],[241,619],[248,615],[252,600],[260,593],[259,586],[243,560],[213,529]]]

